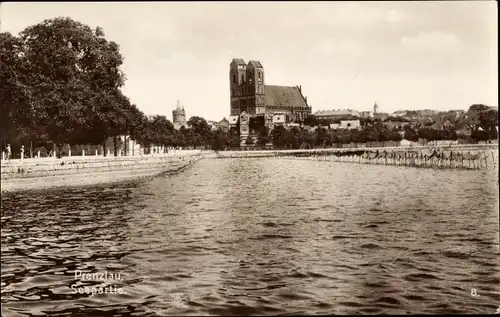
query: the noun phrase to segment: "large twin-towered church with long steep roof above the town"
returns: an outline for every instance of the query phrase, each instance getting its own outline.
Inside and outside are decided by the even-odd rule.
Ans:
[[[246,64],[243,59],[234,58],[229,66],[229,88],[229,121],[233,126],[240,123],[242,144],[254,133],[249,126],[251,119],[272,129],[277,124],[303,122],[312,111],[301,86],[266,85],[264,67],[259,61]]]

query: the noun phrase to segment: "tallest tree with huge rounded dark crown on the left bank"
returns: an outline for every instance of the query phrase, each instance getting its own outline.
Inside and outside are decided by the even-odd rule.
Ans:
[[[36,114],[33,121],[51,140],[61,145],[91,130],[88,141],[95,142],[99,135],[105,140],[108,129],[122,130],[123,58],[102,29],[55,18],[26,28],[20,41]],[[114,131],[111,136],[116,136]]]

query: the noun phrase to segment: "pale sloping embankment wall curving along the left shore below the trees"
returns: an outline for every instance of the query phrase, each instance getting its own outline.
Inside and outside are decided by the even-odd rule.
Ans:
[[[200,151],[126,157],[63,157],[2,161],[2,193],[97,185],[178,172],[204,156]]]

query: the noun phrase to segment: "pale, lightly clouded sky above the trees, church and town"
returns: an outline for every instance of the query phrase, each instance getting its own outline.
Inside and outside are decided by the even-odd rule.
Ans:
[[[1,31],[55,17],[120,45],[125,94],[149,115],[228,117],[229,64],[302,86],[313,112],[498,106],[496,1],[7,2]]]

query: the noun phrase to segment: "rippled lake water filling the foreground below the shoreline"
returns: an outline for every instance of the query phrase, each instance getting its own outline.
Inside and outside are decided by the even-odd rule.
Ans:
[[[2,313],[494,313],[496,175],[227,159],[145,183],[9,195]],[[72,289],[104,286],[125,294]]]

